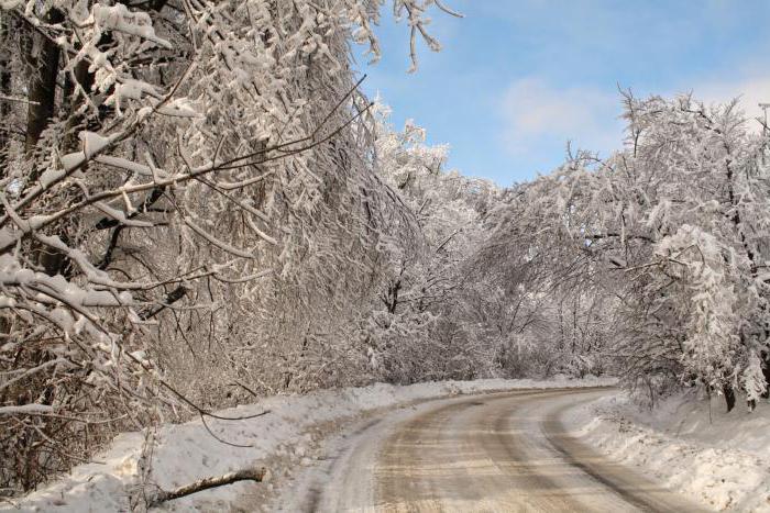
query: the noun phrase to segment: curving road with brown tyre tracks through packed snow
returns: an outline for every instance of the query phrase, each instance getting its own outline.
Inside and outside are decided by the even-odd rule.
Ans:
[[[703,511],[569,436],[560,416],[607,390],[438,401],[378,423],[330,469],[314,511]]]

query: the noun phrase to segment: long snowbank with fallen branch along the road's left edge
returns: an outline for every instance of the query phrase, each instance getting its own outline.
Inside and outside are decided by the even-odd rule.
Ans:
[[[207,420],[219,438],[208,433],[201,421],[164,425],[155,443],[146,444],[147,433],[124,433],[108,450],[40,490],[0,504],[0,511],[124,512],[143,483],[172,489],[201,478],[233,470],[278,464],[285,472],[317,457],[314,447],[331,433],[361,420],[366,412],[395,409],[419,401],[494,390],[543,389],[614,384],[614,379],[557,379],[549,381],[490,379],[443,381],[409,387],[373,384],[364,388],[327,390],[297,397],[274,397],[257,404],[219,412],[223,416],[244,416],[265,410],[270,413],[248,421]],[[242,447],[246,446],[246,447]],[[151,472],[142,471],[144,457],[152,457]],[[274,479],[274,478],[273,478]],[[166,510],[227,511],[243,495],[255,495],[265,483],[240,482],[196,493],[166,503]],[[256,506],[256,504],[254,504]],[[256,508],[253,508],[256,509]]]

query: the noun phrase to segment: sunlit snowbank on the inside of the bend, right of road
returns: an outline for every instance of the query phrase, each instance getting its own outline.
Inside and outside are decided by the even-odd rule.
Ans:
[[[739,403],[689,391],[653,410],[626,394],[573,409],[563,420],[584,442],[622,464],[718,510],[770,512],[770,404]]]

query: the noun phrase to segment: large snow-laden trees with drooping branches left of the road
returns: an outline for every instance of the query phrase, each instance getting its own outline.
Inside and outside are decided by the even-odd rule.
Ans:
[[[392,4],[438,49],[442,4]],[[350,64],[382,7],[0,1],[0,487],[293,381],[307,361],[260,352],[355,316],[399,209]]]

